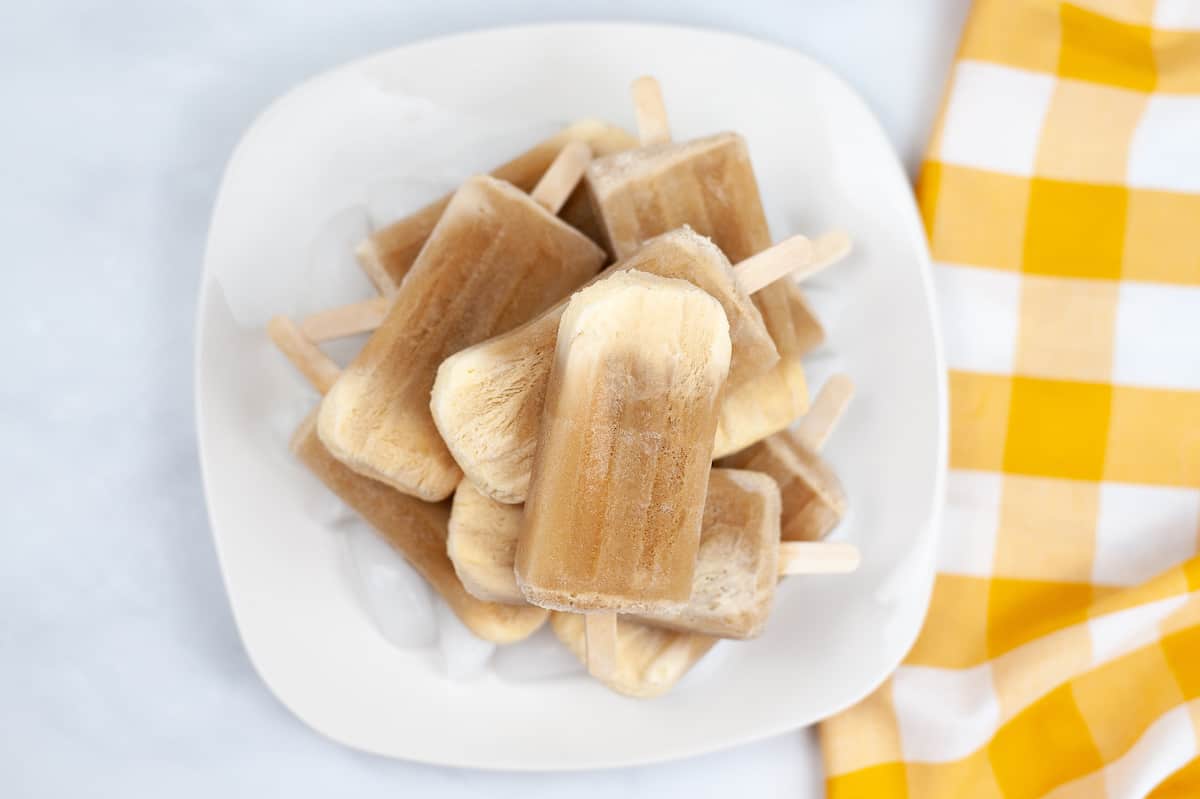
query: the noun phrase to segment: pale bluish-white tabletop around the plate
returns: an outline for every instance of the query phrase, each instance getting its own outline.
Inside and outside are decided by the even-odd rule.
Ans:
[[[47,1],[0,24],[0,794],[821,794],[810,732],[581,775],[347,751],[256,677],[196,461],[192,317],[241,131],[347,59],[444,32],[620,18],[794,46],[850,79],[912,167],[967,0],[552,5]],[[506,734],[498,731],[497,734]]]

